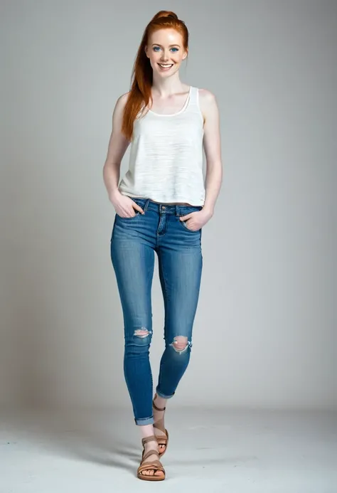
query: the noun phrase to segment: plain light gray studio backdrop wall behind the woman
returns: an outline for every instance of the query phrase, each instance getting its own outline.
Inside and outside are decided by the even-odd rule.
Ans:
[[[224,181],[177,405],[336,408],[336,1],[1,1],[0,403],[129,405],[102,181],[146,23],[191,32]],[[126,171],[126,155],[122,173]],[[156,383],[163,302],[153,285]]]

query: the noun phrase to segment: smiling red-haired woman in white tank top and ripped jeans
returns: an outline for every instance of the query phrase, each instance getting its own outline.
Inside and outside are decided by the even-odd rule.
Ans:
[[[165,479],[159,460],[169,440],[164,410],[190,359],[201,229],[213,216],[222,181],[218,106],[208,90],[181,83],[179,68],[187,55],[185,23],[160,11],[144,31],[132,88],[114,108],[103,172],[116,211],[111,258],[124,316],[124,376],[142,435],[137,476],[151,481]],[[119,183],[130,142],[129,170]],[[164,295],[165,350],[152,401],[154,252]]]

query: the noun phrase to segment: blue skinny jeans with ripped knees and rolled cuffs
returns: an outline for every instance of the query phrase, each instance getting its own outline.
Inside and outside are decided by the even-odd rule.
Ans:
[[[164,354],[156,393],[171,398],[190,360],[192,329],[203,267],[201,230],[189,230],[179,219],[201,206],[160,204],[133,198],[144,210],[132,218],[116,214],[111,260],[124,318],[124,377],[137,425],[154,423],[153,380],[149,361],[152,337],[151,285],[154,253],[164,296]],[[186,346],[177,349],[176,337]]]

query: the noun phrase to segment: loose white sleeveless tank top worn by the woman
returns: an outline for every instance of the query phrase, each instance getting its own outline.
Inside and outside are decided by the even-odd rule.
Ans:
[[[159,115],[149,110],[135,120],[129,170],[119,191],[159,203],[203,206],[203,115],[198,88],[191,86],[177,113]]]

